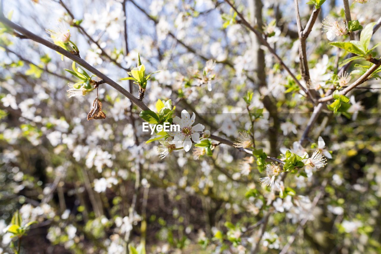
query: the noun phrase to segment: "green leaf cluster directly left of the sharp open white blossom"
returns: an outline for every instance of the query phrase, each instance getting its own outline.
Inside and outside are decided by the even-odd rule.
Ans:
[[[172,100],[163,101],[158,99],[156,102],[156,110],[157,113],[154,111],[147,109],[140,112],[139,116],[149,124],[157,124],[162,125],[165,122],[169,122],[172,124],[173,121],[173,112],[174,109],[176,109],[176,106],[173,106],[172,108]],[[146,141],[146,143],[150,143],[152,141],[160,140],[162,138],[167,137],[168,134],[164,131],[156,133],[153,137],[151,137],[149,140]]]

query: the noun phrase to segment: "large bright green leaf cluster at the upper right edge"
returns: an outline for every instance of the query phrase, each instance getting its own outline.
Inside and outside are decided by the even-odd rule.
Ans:
[[[370,44],[370,39],[373,35],[373,26],[376,23],[370,23],[367,24],[367,26],[364,27],[364,29],[361,31],[360,34],[360,40],[351,40],[349,42],[331,42],[329,43],[332,46],[342,48],[343,50],[346,50],[350,53],[355,54],[356,56],[353,56],[351,58],[348,58],[344,60],[340,66],[345,65],[346,63],[349,63],[350,61],[356,60],[356,59],[365,59],[370,60],[371,58],[376,56],[376,51],[373,51],[376,47],[381,45],[380,43],[377,43],[372,48],[368,49]],[[360,29],[360,24],[357,23],[351,23],[351,29]]]

